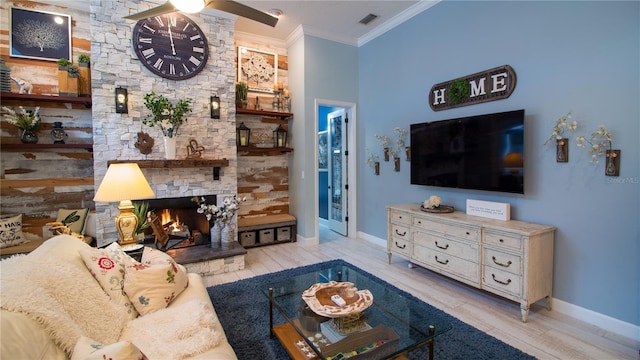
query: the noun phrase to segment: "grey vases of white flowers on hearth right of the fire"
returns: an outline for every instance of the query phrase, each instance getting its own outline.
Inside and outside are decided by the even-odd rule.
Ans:
[[[211,247],[228,248],[235,240],[235,215],[240,208],[240,202],[246,201],[245,196],[226,196],[222,205],[207,204],[204,197],[196,197],[199,214],[204,214],[211,229]]]

